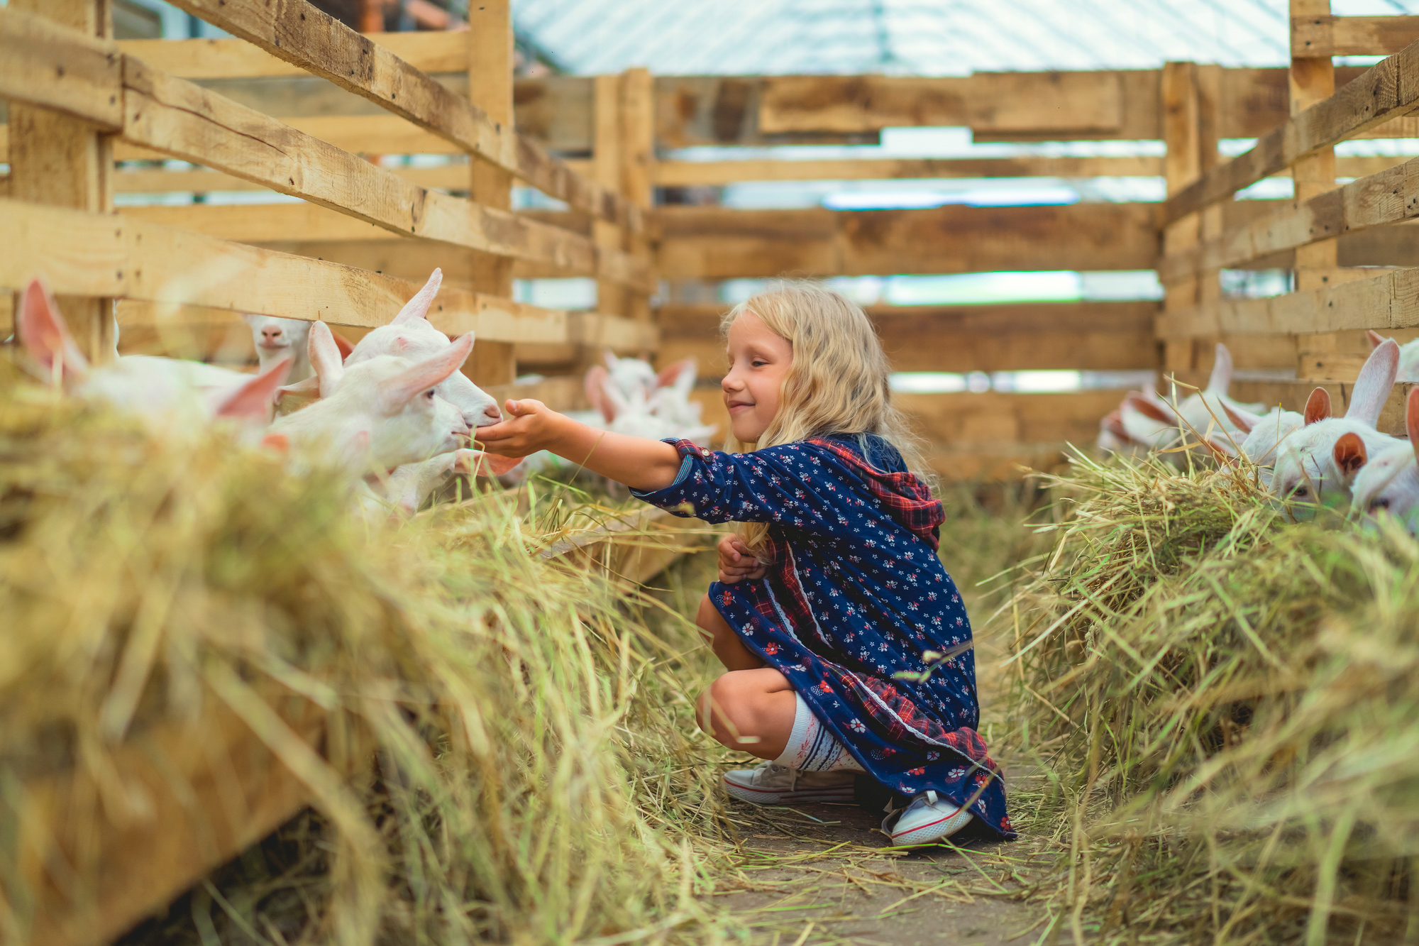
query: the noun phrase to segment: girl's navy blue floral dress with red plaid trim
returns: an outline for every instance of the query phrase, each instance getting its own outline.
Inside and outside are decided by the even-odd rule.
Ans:
[[[883,785],[934,788],[1015,837],[1002,773],[975,732],[971,622],[937,558],[945,513],[897,450],[874,436],[753,453],[667,443],[680,474],[637,497],[710,523],[769,524],[765,577],[710,585],[745,646]]]

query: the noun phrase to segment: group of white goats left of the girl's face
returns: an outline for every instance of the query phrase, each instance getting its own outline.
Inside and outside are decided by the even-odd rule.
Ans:
[[[470,447],[475,430],[502,415],[497,399],[460,371],[473,332],[450,341],[426,318],[441,281],[434,270],[389,324],[356,345],[325,322],[245,317],[260,361],[255,375],[156,355],[115,354],[89,365],[40,280],[21,294],[16,327],[30,366],[70,396],[138,413],[169,432],[228,419],[234,423],[223,428],[233,436],[284,453],[292,469],[348,480],[363,513],[410,514],[455,474],[511,486],[562,463]],[[634,358],[607,354],[606,361],[586,375],[596,411],[578,412],[580,420],[708,446],[714,429],[690,401],[692,361],[660,372]]]

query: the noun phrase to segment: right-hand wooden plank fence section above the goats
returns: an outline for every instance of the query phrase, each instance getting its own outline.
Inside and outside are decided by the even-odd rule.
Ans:
[[[1288,115],[1230,161],[1216,156],[1227,105],[1218,71],[1176,64],[1164,72],[1169,196],[1156,332],[1164,366],[1192,381],[1209,368],[1218,339],[1294,368],[1294,381],[1240,384],[1237,395],[1298,409],[1317,385],[1347,401],[1369,354],[1364,330],[1408,341],[1419,327],[1419,280],[1405,268],[1419,266],[1419,232],[1393,226],[1419,214],[1419,161],[1358,168],[1335,156],[1347,139],[1419,136],[1410,116],[1419,108],[1419,17],[1335,17],[1328,0],[1291,0],[1290,10]],[[1389,58],[1357,74],[1332,55]],[[1261,206],[1237,213],[1239,190],[1287,172],[1293,200],[1252,202]],[[1337,176],[1355,179],[1337,186]],[[1223,297],[1222,270],[1261,266],[1290,268],[1293,291]],[[1402,396],[1395,392],[1382,426],[1402,430]]]

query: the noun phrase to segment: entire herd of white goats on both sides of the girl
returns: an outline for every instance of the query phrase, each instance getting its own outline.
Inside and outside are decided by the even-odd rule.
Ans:
[[[40,280],[21,294],[16,324],[31,366],[71,396],[135,412],[166,430],[233,419],[227,429],[234,436],[282,452],[294,469],[346,477],[366,513],[409,514],[460,473],[511,486],[568,466],[548,453],[508,460],[471,447],[475,430],[502,415],[460,371],[473,332],[450,341],[426,318],[441,280],[434,270],[389,324],[355,345],[325,322],[247,315],[260,362],[255,375],[156,355],[115,355],[91,366]],[[1219,344],[1205,389],[1171,403],[1151,389],[1130,392],[1100,422],[1098,447],[1156,455],[1178,466],[1244,457],[1271,494],[1300,500],[1290,504],[1298,517],[1348,503],[1362,516],[1395,516],[1413,533],[1419,386],[1406,403],[1408,440],[1381,433],[1376,423],[1396,379],[1419,382],[1419,341],[1401,348],[1375,332],[1369,339],[1374,351],[1342,418],[1331,416],[1324,388],[1311,392],[1304,413],[1261,413],[1264,405],[1233,401],[1232,355]],[[648,362],[607,352],[606,365],[586,374],[595,409],[576,416],[606,430],[708,446],[714,428],[691,401],[694,385],[692,359],[657,372]]]

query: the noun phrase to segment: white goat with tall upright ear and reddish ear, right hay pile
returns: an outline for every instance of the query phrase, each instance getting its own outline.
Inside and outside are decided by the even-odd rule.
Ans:
[[[1279,499],[1324,503],[1344,496],[1349,499],[1349,486],[1365,463],[1391,446],[1395,439],[1375,429],[1379,412],[1395,385],[1395,371],[1399,366],[1399,345],[1392,339],[1371,352],[1355,378],[1349,409],[1344,418],[1330,416],[1330,395],[1324,389],[1311,392],[1305,402],[1304,426],[1286,437],[1277,450],[1276,472],[1271,474],[1271,493]],[[1347,433],[1347,445],[1358,440],[1361,452],[1351,447],[1337,450],[1337,443]],[[1314,514],[1314,506],[1293,510],[1297,518]]]

